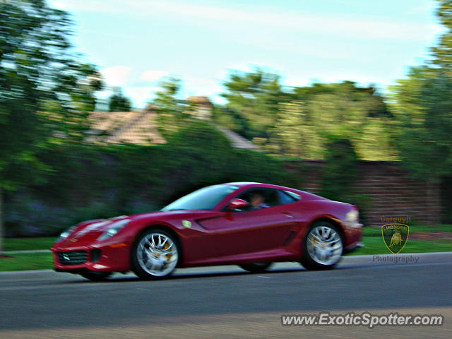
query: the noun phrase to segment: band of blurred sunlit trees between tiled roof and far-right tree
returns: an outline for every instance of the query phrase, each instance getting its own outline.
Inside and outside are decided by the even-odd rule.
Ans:
[[[225,83],[226,109],[215,120],[264,150],[321,159],[331,138],[347,138],[366,160],[391,160],[388,112],[373,87],[351,81],[282,88],[278,76],[257,70],[232,73]]]

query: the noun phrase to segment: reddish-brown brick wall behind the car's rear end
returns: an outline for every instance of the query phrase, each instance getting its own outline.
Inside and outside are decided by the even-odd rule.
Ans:
[[[302,165],[300,177],[303,182],[300,186],[305,191],[319,193],[319,174],[323,161],[306,160]],[[287,164],[287,167],[294,172],[299,168],[294,163]],[[367,225],[383,225],[385,222],[381,222],[381,217],[384,216],[410,215],[412,222],[425,224],[438,224],[441,221],[439,184],[410,178],[397,162],[361,161],[359,169],[357,192],[369,197]]]

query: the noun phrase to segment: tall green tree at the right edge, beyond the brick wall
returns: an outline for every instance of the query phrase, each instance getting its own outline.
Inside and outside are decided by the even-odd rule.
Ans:
[[[414,177],[431,182],[452,175],[452,1],[438,2],[436,15],[446,31],[432,58],[412,67],[390,97],[400,160]]]

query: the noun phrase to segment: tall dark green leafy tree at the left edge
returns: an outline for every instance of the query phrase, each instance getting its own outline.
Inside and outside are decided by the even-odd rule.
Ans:
[[[43,0],[0,1],[0,191],[41,179],[45,143],[83,138],[102,83],[71,52],[70,25]]]

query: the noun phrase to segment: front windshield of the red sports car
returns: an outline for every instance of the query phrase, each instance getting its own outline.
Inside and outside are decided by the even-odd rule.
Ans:
[[[239,186],[234,185],[204,187],[177,199],[161,210],[211,210],[222,198],[238,188]]]

